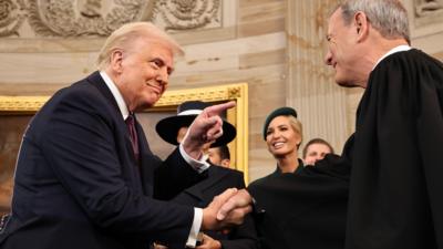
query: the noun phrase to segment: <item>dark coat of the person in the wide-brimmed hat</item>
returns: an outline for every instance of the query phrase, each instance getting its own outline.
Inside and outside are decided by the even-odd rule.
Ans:
[[[227,188],[245,188],[244,175],[241,172],[212,165],[208,177],[198,184],[187,188],[173,201],[178,204],[206,207],[215,196]],[[258,245],[257,232],[250,215],[245,217],[241,226],[234,228],[229,234],[205,231],[214,239],[222,242],[224,249],[256,249]],[[175,248],[174,248],[175,249]]]

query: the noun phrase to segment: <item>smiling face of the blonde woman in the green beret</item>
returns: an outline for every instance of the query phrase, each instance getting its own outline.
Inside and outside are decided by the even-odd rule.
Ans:
[[[298,152],[301,143],[301,135],[291,125],[288,116],[275,117],[268,126],[266,133],[266,144],[274,157],[284,157]]]

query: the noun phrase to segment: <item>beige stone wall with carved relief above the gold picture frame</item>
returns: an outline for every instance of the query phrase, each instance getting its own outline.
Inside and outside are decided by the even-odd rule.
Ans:
[[[274,170],[261,125],[285,104],[281,0],[0,0],[0,95],[51,95],[94,71],[105,33],[117,25],[100,23],[124,12],[152,20],[183,44],[172,90],[248,83],[249,176]]]

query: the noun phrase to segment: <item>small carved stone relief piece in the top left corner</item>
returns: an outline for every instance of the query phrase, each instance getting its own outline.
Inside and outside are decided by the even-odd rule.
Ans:
[[[18,29],[27,18],[23,0],[0,0],[0,37],[19,35]]]

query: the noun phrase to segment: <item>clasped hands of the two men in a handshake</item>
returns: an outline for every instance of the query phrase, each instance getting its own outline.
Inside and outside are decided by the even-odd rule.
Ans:
[[[245,216],[253,210],[249,194],[228,188],[216,196],[213,201],[203,209],[202,230],[220,230],[240,225]],[[237,196],[237,194],[239,194]],[[223,208],[223,210],[220,210]]]

